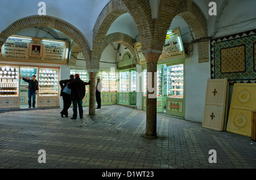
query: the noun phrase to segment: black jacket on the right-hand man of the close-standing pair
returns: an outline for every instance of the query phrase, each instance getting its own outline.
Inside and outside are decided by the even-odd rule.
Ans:
[[[84,99],[85,83],[80,78],[75,78],[68,83],[68,88],[71,89],[71,99]]]

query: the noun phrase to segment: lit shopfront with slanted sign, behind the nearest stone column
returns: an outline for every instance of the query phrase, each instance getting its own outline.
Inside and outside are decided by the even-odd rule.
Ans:
[[[141,51],[141,44],[136,43],[139,64],[143,71],[143,110],[147,101],[147,66]],[[185,53],[179,28],[167,32],[166,44],[158,61],[157,68],[157,111],[183,119],[185,117]]]

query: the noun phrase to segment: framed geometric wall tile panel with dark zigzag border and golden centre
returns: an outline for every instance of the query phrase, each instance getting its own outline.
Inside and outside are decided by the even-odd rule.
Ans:
[[[255,83],[255,43],[256,30],[211,40],[211,79],[228,78],[230,84]]]

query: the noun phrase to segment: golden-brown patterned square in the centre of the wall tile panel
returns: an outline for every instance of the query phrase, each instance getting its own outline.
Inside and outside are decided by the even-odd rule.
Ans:
[[[245,72],[245,46],[221,49],[221,73]]]

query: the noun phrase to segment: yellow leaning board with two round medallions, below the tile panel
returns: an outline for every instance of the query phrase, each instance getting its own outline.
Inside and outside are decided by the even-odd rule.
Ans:
[[[235,83],[226,131],[251,137],[251,120],[256,108],[256,84]]]

